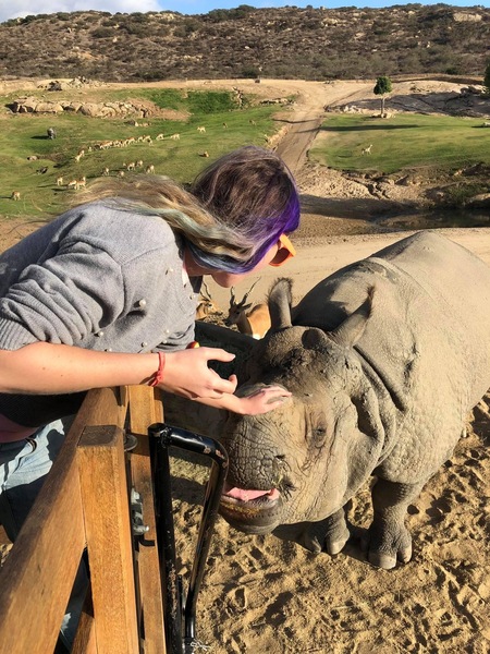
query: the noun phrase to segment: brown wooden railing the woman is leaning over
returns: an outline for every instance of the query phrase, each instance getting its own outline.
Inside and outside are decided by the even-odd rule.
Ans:
[[[74,654],[166,654],[147,435],[162,420],[154,389],[87,393],[0,571],[0,654],[54,651],[85,547],[90,588]],[[125,425],[138,441],[130,455]],[[139,542],[131,487],[149,526]]]

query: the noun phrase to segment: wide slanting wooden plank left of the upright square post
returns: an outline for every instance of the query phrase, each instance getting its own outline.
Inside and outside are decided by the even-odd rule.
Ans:
[[[0,571],[1,654],[54,650],[84,547],[78,471],[63,446]]]

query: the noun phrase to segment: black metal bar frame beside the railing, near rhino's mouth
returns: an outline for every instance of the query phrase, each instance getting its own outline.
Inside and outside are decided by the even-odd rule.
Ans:
[[[199,436],[193,432],[181,429],[177,427],[171,427],[164,424],[156,424],[149,427],[149,435],[160,438],[160,446],[163,451],[168,452],[168,448],[179,447],[181,449],[192,451],[198,455],[203,455],[211,459],[211,471],[208,484],[206,486],[206,494],[203,504],[203,513],[199,524],[199,533],[197,536],[196,555],[194,557],[193,569],[191,572],[191,580],[187,591],[187,597],[184,605],[184,652],[192,653],[194,651],[193,645],[196,642],[196,608],[197,608],[197,595],[199,593],[200,584],[205,573],[206,560],[209,553],[209,547],[212,538],[212,531],[218,517],[218,509],[223,489],[224,481],[228,472],[228,453],[226,450],[213,438]],[[161,471],[163,472],[163,471]],[[167,525],[168,530],[162,528],[162,531],[171,531],[173,536],[173,517],[172,517],[172,500],[170,491],[170,470],[168,474],[167,489],[164,491],[169,500],[170,498],[170,512],[169,507],[166,506],[163,516],[169,517],[171,525]],[[162,489],[163,491],[163,489]],[[162,521],[164,522],[164,520]],[[173,565],[170,566],[173,579],[175,579],[175,544],[173,540],[173,546],[168,548],[168,555],[172,557]],[[166,565],[167,567],[167,565]],[[175,591],[168,589],[175,596]],[[171,617],[173,614],[171,614]],[[173,625],[170,631],[173,633],[176,629],[181,629],[181,623]],[[181,632],[182,633],[182,632]],[[173,650],[171,650],[173,653]]]

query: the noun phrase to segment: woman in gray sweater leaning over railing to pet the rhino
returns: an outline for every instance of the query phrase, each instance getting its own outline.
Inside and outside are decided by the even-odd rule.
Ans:
[[[299,202],[279,157],[248,146],[189,191],[135,175],[87,199],[0,256],[0,522],[11,540],[61,447],[60,419],[86,390],[149,384],[252,415],[290,395],[238,398],[236,377],[208,367],[233,355],[189,349],[204,275],[228,288],[294,254]]]

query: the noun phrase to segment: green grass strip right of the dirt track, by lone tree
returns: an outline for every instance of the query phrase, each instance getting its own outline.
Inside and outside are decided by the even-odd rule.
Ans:
[[[482,119],[449,116],[396,114],[328,118],[311,160],[343,170],[387,174],[414,167],[458,169],[479,161],[490,164],[490,130]],[[363,149],[372,144],[371,154]]]

